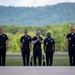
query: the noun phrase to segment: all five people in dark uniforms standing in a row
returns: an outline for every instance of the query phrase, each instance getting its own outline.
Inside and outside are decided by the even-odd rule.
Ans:
[[[53,53],[55,52],[55,41],[51,37],[51,33],[47,33],[47,37],[43,40],[40,36],[41,31],[37,30],[36,35],[32,38],[28,35],[28,30],[24,30],[24,35],[20,38],[20,49],[22,53],[23,65],[28,66],[30,62],[30,53],[33,50],[33,63],[42,65],[42,45],[46,56],[46,65],[52,66]],[[59,37],[60,38],[60,37]],[[0,28],[0,66],[5,66],[6,50],[8,49],[8,37]],[[32,47],[33,46],[33,47]],[[75,66],[75,33],[74,27],[70,27],[70,33],[66,36],[66,47],[69,52],[70,66]]]

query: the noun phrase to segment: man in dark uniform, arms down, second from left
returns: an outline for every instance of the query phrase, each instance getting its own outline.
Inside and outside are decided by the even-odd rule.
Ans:
[[[24,30],[24,35],[20,38],[20,48],[22,52],[23,65],[29,66],[31,36],[28,35],[28,30]]]

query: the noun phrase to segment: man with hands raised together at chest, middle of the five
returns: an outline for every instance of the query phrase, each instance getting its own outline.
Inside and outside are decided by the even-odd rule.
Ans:
[[[41,66],[42,63],[42,48],[41,44],[43,43],[43,39],[40,36],[40,30],[36,31],[36,36],[32,39],[33,44],[33,58],[34,58],[34,66],[36,66],[36,59],[38,57],[38,63],[39,66]]]

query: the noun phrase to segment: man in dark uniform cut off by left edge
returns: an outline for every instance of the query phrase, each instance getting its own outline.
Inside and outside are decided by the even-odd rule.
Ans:
[[[5,66],[6,50],[8,49],[8,37],[0,27],[0,66]]]

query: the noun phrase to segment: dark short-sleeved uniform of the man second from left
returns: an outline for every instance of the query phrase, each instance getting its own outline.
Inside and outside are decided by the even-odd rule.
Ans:
[[[31,37],[28,36],[22,36],[20,39],[20,42],[23,43],[22,46],[22,59],[23,59],[23,65],[28,66],[29,65],[29,58],[30,58],[30,48],[29,45],[31,43]]]

